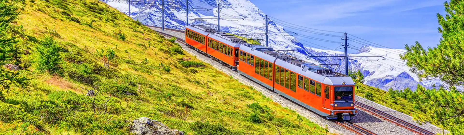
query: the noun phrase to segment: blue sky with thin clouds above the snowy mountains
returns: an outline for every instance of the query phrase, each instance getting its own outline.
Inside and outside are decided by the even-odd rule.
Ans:
[[[436,47],[441,37],[437,30],[439,27],[437,13],[445,13],[443,6],[445,0],[250,1],[263,10],[264,13],[277,19],[309,28],[347,32],[367,41],[394,49],[404,49],[405,44],[412,45],[415,41],[419,41],[424,47]],[[282,24],[283,22],[276,21],[276,23]],[[291,29],[288,26],[284,26],[284,28],[310,37],[342,42],[340,37],[305,33]],[[319,32],[343,35],[342,33]],[[327,47],[321,48],[302,41],[305,45],[320,49],[336,49],[340,46],[340,43],[327,43],[296,37]],[[353,38],[350,37],[349,39]],[[349,43],[354,47],[362,46],[359,43]]]

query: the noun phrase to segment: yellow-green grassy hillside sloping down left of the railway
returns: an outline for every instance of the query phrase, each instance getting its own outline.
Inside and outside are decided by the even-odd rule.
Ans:
[[[187,135],[326,133],[98,0],[0,3],[19,7],[8,33],[29,79],[1,90],[1,133],[128,134],[138,117]]]

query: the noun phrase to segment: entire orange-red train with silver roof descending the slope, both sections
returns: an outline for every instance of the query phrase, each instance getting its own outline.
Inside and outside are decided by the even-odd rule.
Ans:
[[[327,119],[350,120],[357,112],[351,77],[204,25],[187,26],[185,39],[189,47]]]

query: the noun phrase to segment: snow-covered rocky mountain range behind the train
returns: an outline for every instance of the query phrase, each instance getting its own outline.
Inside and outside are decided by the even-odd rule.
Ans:
[[[128,0],[101,0],[119,11],[129,14]],[[132,2],[130,7],[131,17],[139,20],[144,25],[161,26],[161,0],[141,0]],[[189,24],[208,24],[217,27],[217,19],[195,18],[217,18],[217,0],[189,0],[189,8],[204,8],[210,10],[189,10]],[[264,32],[264,12],[249,0],[221,0],[221,18],[243,18],[243,19],[221,19],[220,30],[229,33],[241,32]],[[165,27],[174,29],[185,29],[187,25],[187,12],[185,0],[165,1]],[[270,32],[285,32],[284,27],[269,20]],[[249,35],[257,39],[265,39],[263,34]],[[264,42],[262,42],[264,43]],[[343,52],[334,50],[323,50],[303,46],[295,37],[289,34],[270,34],[269,46],[277,50],[296,50],[293,55],[305,59],[309,55],[343,55]],[[432,84],[440,84],[439,80],[427,80],[419,82],[417,75],[409,71],[406,63],[400,60],[399,54],[406,52],[404,49],[384,49],[372,46],[363,46],[355,54],[350,56],[384,56],[386,60],[372,61],[370,58],[351,58],[349,68],[351,71],[361,70],[365,76],[365,84],[375,86],[383,90],[403,89],[406,87],[414,90],[417,84],[431,87]],[[340,72],[344,73],[344,61],[340,58],[315,58],[308,59],[315,64],[340,64]]]

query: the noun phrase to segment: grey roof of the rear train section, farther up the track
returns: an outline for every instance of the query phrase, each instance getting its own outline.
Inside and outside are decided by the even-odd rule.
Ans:
[[[226,32],[217,31],[217,29],[211,28],[206,25],[188,25],[188,29],[199,32],[200,34],[207,35],[208,37],[217,40],[222,43],[226,43],[233,47],[240,47],[241,44],[248,44],[245,40],[229,35]]]

